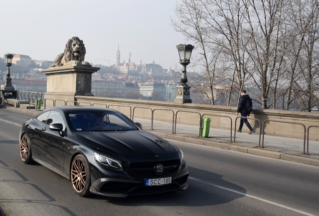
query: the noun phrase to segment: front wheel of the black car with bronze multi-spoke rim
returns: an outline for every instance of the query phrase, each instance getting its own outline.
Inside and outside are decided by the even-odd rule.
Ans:
[[[80,196],[87,196],[91,194],[90,166],[86,157],[82,154],[76,155],[72,161],[71,182],[75,192]]]

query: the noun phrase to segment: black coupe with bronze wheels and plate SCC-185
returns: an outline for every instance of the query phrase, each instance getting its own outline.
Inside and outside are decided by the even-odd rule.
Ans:
[[[48,108],[23,123],[19,139],[23,162],[36,161],[71,180],[81,196],[188,187],[183,151],[113,109]]]

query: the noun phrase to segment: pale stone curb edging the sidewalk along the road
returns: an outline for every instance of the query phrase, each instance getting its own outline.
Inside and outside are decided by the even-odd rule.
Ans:
[[[185,141],[185,142],[190,142],[194,144],[208,145],[208,146],[222,148],[222,149],[235,150],[235,151],[255,154],[259,156],[266,156],[266,157],[271,157],[275,159],[282,159],[282,160],[288,160],[292,162],[299,162],[299,163],[319,166],[318,159],[309,158],[305,156],[297,156],[297,155],[291,155],[287,153],[280,153],[277,151],[265,150],[265,149],[256,148],[256,147],[247,147],[247,146],[234,145],[234,144],[228,144],[228,143],[222,143],[222,142],[215,142],[211,140],[204,140],[204,139],[194,138],[190,136],[184,137],[184,136],[179,136],[175,134],[155,132],[152,130],[147,130],[147,131],[162,138],[168,138],[168,139],[173,139],[177,141]]]

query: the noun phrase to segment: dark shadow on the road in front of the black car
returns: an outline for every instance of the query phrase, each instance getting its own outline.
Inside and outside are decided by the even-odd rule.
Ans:
[[[194,167],[189,167],[189,171],[189,187],[186,190],[111,198],[107,201],[123,206],[208,206],[227,203],[246,194],[243,187],[224,180],[222,175]]]

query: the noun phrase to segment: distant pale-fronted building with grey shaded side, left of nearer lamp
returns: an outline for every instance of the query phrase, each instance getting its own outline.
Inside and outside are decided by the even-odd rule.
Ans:
[[[142,99],[166,101],[166,86],[160,82],[145,82],[139,86]]]

